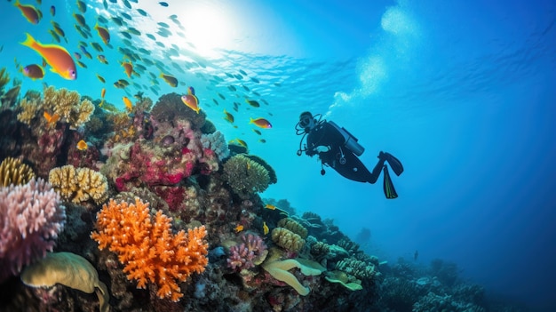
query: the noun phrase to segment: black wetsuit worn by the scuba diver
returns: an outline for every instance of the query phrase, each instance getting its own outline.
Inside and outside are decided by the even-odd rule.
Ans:
[[[385,159],[379,159],[373,171],[369,172],[361,160],[346,148],[344,142],[345,138],[338,132],[338,128],[324,120],[307,135],[306,155],[318,154],[322,164],[329,165],[347,179],[374,184],[385,164]],[[319,151],[318,147],[326,147],[328,151]]]

